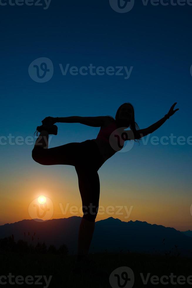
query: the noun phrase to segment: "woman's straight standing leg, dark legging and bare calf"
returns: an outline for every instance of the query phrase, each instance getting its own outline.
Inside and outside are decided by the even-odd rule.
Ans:
[[[75,170],[78,175],[83,210],[78,236],[78,260],[81,260],[89,252],[95,228],[95,218],[99,207],[100,181],[96,169],[75,166]]]

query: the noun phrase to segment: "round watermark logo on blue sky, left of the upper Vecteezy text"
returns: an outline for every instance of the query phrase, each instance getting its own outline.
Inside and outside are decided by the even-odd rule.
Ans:
[[[53,63],[49,58],[35,59],[28,68],[31,79],[38,83],[48,82],[53,77]]]

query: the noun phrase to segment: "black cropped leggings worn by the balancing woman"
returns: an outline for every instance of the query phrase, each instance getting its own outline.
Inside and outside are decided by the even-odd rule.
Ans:
[[[78,175],[83,218],[95,221],[99,207],[100,181],[97,171],[105,162],[94,140],[44,149],[35,146],[32,158],[42,165],[72,165]]]

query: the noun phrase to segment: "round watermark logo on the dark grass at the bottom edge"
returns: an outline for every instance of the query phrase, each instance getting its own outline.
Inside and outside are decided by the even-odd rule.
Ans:
[[[134,281],[135,277],[133,270],[126,266],[115,269],[109,277],[112,288],[132,288]]]

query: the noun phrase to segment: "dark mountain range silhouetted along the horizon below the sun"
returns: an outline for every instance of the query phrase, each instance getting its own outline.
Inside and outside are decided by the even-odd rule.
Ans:
[[[77,216],[48,221],[22,220],[1,225],[0,239],[14,235],[15,241],[22,239],[33,245],[45,241],[47,246],[55,245],[58,248],[65,244],[70,254],[76,254],[80,222],[81,217]],[[120,251],[191,257],[192,231],[180,232],[138,220],[123,222],[113,217],[97,221],[90,253]]]

